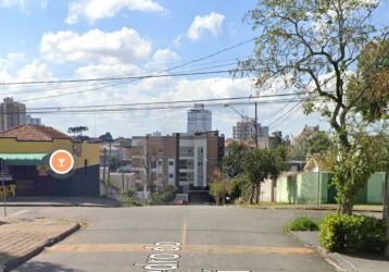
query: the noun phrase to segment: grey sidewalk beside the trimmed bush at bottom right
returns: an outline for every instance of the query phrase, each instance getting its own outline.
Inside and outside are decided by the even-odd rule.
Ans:
[[[389,271],[389,258],[379,255],[341,255],[324,249],[318,240],[318,232],[291,233],[300,243],[316,249],[317,254],[327,258],[336,267],[347,272],[380,272]]]

